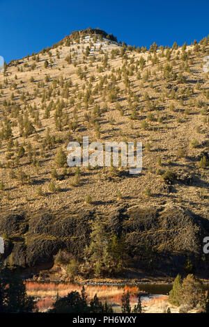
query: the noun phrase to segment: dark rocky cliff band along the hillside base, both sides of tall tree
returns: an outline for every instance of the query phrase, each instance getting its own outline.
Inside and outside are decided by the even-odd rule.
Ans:
[[[42,212],[33,217],[1,214],[0,233],[5,237],[4,262],[21,267],[53,263],[54,255],[65,250],[84,259],[89,243],[89,221],[95,212]],[[106,217],[110,233],[123,234],[134,267],[162,271],[171,275],[181,271],[189,257],[200,271],[203,237],[209,223],[178,205],[162,207],[130,207],[115,210]],[[151,266],[150,266],[150,262]]]

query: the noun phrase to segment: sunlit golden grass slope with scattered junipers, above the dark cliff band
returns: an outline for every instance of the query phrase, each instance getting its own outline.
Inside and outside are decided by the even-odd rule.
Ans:
[[[8,64],[0,74],[1,211],[108,216],[126,205],[180,205],[209,218],[208,52],[208,38],[147,51],[80,33]],[[142,173],[69,168],[68,142],[82,136],[142,141]]]

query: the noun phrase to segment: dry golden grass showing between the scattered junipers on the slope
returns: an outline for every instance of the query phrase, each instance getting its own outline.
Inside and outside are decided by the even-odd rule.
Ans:
[[[3,86],[3,95],[1,96],[1,103],[4,99],[10,99],[11,93],[15,94],[15,104],[20,104],[22,108],[22,112],[24,113],[24,102],[20,99],[20,94],[17,93],[17,90],[24,91],[24,93],[29,92],[29,100],[27,100],[26,105],[34,105],[36,104],[38,108],[38,112],[40,115],[40,120],[42,122],[42,127],[36,127],[36,135],[38,135],[39,139],[36,140],[36,135],[32,134],[28,139],[24,139],[20,137],[19,127],[13,127],[13,134],[15,139],[23,144],[24,141],[26,143],[28,141],[31,142],[33,147],[36,148],[38,153],[38,161],[40,162],[40,166],[38,168],[32,166],[28,163],[27,159],[24,157],[20,160],[22,168],[31,175],[31,184],[26,184],[25,186],[18,186],[16,180],[11,180],[9,177],[9,170],[6,168],[0,169],[0,180],[6,185],[6,191],[10,192],[10,200],[6,196],[1,198],[1,206],[3,210],[9,209],[11,207],[11,203],[13,203],[13,210],[21,210],[24,212],[36,211],[38,209],[43,209],[47,207],[48,209],[56,209],[61,210],[63,206],[68,207],[72,210],[84,210],[86,208],[86,203],[84,199],[89,194],[89,188],[91,188],[91,193],[94,194],[94,201],[97,203],[98,210],[100,212],[111,212],[116,207],[116,200],[118,191],[121,192],[123,196],[123,202],[128,202],[130,206],[133,205],[141,205],[144,203],[152,204],[161,204],[162,200],[167,200],[167,202],[182,202],[184,205],[189,205],[189,208],[194,210],[197,214],[202,214],[206,216],[206,203],[207,196],[201,197],[199,196],[199,186],[200,184],[192,185],[191,187],[187,187],[184,184],[176,184],[175,185],[175,193],[168,193],[167,189],[164,188],[162,184],[162,177],[156,175],[156,173],[148,172],[148,167],[152,166],[153,171],[159,168],[157,166],[157,157],[158,154],[161,153],[163,169],[172,168],[174,171],[180,169],[185,172],[195,173],[198,175],[201,180],[201,187],[206,188],[206,180],[208,176],[208,170],[204,172],[204,176],[202,175],[203,171],[200,170],[196,166],[196,162],[190,160],[196,156],[201,149],[192,149],[189,147],[189,142],[196,138],[199,143],[204,143],[206,140],[206,131],[208,128],[207,124],[203,124],[202,116],[200,115],[200,109],[193,107],[189,107],[189,99],[199,99],[208,103],[206,97],[203,96],[202,90],[203,88],[208,88],[208,77],[205,73],[203,73],[201,64],[203,62],[203,54],[201,56],[196,56],[194,52],[192,52],[192,60],[193,63],[189,65],[191,68],[191,72],[184,72],[184,75],[187,77],[187,83],[178,86],[178,90],[183,90],[183,88],[194,88],[195,82],[202,80],[201,89],[194,90],[194,95],[185,99],[185,106],[182,107],[179,104],[179,100],[173,100],[169,97],[164,98],[164,102],[160,103],[160,106],[163,104],[163,109],[156,109],[153,111],[153,115],[155,117],[154,121],[148,121],[150,128],[148,130],[141,129],[140,124],[141,120],[144,120],[148,115],[148,109],[146,109],[146,105],[144,102],[144,94],[148,93],[148,95],[155,99],[160,99],[162,94],[167,91],[167,81],[162,79],[162,73],[158,70],[158,65],[152,65],[150,61],[146,63],[146,67],[141,72],[141,76],[143,77],[146,70],[150,70],[150,80],[145,81],[143,84],[141,83],[141,79],[137,80],[136,75],[130,76],[129,79],[131,81],[131,89],[134,90],[135,95],[139,96],[139,120],[130,120],[129,116],[131,113],[129,104],[127,103],[127,94],[125,91],[125,86],[123,81],[117,81],[116,86],[118,86],[121,90],[119,94],[120,104],[123,106],[125,110],[125,115],[121,116],[120,113],[115,109],[115,103],[111,103],[107,101],[107,97],[102,99],[102,95],[95,95],[95,103],[89,106],[88,111],[85,111],[84,104],[82,104],[81,109],[76,109],[79,129],[76,131],[70,131],[70,134],[73,139],[81,138],[82,135],[91,136],[91,141],[142,141],[145,145],[146,143],[150,143],[151,151],[144,150],[143,157],[143,171],[139,176],[135,176],[132,178],[118,178],[117,183],[114,180],[108,180],[105,177],[104,171],[102,168],[98,170],[86,170],[86,168],[82,168],[82,184],[78,187],[72,187],[72,181],[74,177],[75,169],[72,168],[70,173],[70,177],[65,178],[64,180],[56,181],[56,186],[61,188],[61,193],[52,193],[48,191],[49,181],[51,180],[51,172],[52,168],[54,168],[54,155],[56,154],[57,148],[59,146],[56,145],[51,150],[45,150],[46,157],[42,157],[40,154],[40,147],[43,139],[45,138],[47,128],[51,129],[51,134],[55,136],[61,136],[67,134],[68,129],[64,127],[63,131],[56,131],[54,126],[54,113],[51,112],[50,118],[44,118],[44,110],[41,109],[42,102],[41,98],[38,96],[33,96],[33,88],[37,86],[38,82],[44,81],[46,75],[49,75],[50,81],[45,82],[44,92],[47,93],[47,90],[50,86],[52,86],[53,79],[59,79],[61,76],[65,81],[69,79],[73,82],[73,87],[70,88],[70,97],[74,97],[73,90],[75,90],[75,86],[77,84],[78,91],[82,92],[82,86],[85,81],[80,80],[77,76],[77,68],[82,67],[84,70],[84,66],[87,66],[87,74],[86,79],[89,81],[91,75],[95,75],[95,81],[93,81],[92,85],[95,87],[96,83],[99,82],[99,77],[110,75],[111,70],[114,68],[116,70],[118,67],[123,67],[125,61],[116,57],[114,59],[109,58],[109,66],[104,72],[97,72],[97,65],[100,65],[100,62],[93,63],[92,67],[89,65],[89,61],[82,63],[82,54],[81,49],[82,46],[85,47],[88,45],[88,41],[78,45],[71,45],[70,47],[61,46],[58,47],[60,58],[56,58],[56,49],[52,49],[52,69],[45,68],[44,62],[46,59],[49,59],[47,54],[40,56],[40,61],[36,63],[36,68],[34,70],[30,70],[28,67],[24,67],[25,63],[29,64],[29,67],[34,63],[33,58],[29,57],[29,61],[27,58],[24,58],[19,61],[19,65],[17,67],[22,67],[23,72],[18,72],[17,67],[12,66],[8,67],[8,86]],[[70,49],[74,48],[77,51],[77,61],[81,61],[77,67],[74,67],[73,62],[75,58],[72,57],[72,64],[68,64],[65,61],[65,57],[69,54]],[[120,49],[117,45],[107,45],[104,42],[104,51],[107,51],[110,54],[111,49]],[[194,50],[194,47],[187,47],[187,50]],[[208,47],[206,47],[208,49]],[[181,53],[181,49],[179,49]],[[177,51],[173,51],[171,56],[171,63],[173,65],[174,72],[178,73],[180,71],[180,64],[182,63],[180,60],[176,60],[174,63],[174,58],[176,57]],[[98,49],[94,51],[91,55],[95,54],[96,58],[102,57],[103,54],[98,53]],[[157,54],[160,54],[160,51],[157,51]],[[148,52],[145,54],[137,54],[135,52],[127,51],[127,55],[129,58],[133,58],[134,63],[136,63],[141,56],[144,58],[148,58]],[[110,56],[109,56],[110,57]],[[166,64],[166,58],[160,58],[160,65]],[[15,75],[17,75],[17,79],[15,80]],[[35,83],[31,83],[31,76],[34,77]],[[0,75],[0,83],[3,85],[5,77],[3,74]],[[10,86],[13,84],[13,81],[17,83],[17,90],[10,90]],[[22,81],[23,83],[20,83]],[[153,81],[153,87],[150,87],[150,81]],[[172,82],[171,82],[172,83]],[[157,88],[160,89],[160,92],[157,92]],[[39,89],[40,94],[42,94],[42,88]],[[59,87],[56,88],[56,92],[59,90]],[[106,94],[107,95],[107,94]],[[180,95],[180,93],[179,93]],[[68,105],[65,109],[63,109],[63,113],[68,115],[70,120],[73,119],[73,110],[75,109],[75,105],[80,101],[77,99],[74,106],[70,106],[70,97],[68,100],[64,99],[64,101],[68,102]],[[51,97],[55,102],[56,99],[61,99],[61,95],[56,95],[55,97]],[[51,100],[50,99],[50,100]],[[84,122],[84,113],[91,113],[95,104],[100,104],[102,107],[103,104],[107,102],[108,111],[102,113],[102,122],[100,123],[101,134],[98,137],[96,131],[93,127],[89,127],[87,122]],[[171,113],[169,111],[169,105],[173,103],[178,111]],[[49,100],[46,100],[46,104],[49,104]],[[190,115],[185,115],[184,109],[188,107],[189,111],[191,111]],[[162,122],[157,121],[157,117],[162,117]],[[114,119],[114,123],[111,124],[111,118]],[[177,122],[177,120],[182,120],[183,122]],[[11,118],[14,121],[14,118]],[[163,122],[166,120],[166,123]],[[201,127],[202,133],[199,134],[196,132],[196,127]],[[153,127],[155,131],[153,131]],[[157,129],[160,129],[157,132]],[[81,131],[83,129],[83,131]],[[63,149],[66,149],[66,145],[68,140],[62,145]],[[180,159],[177,157],[177,153],[180,147],[184,147],[187,152],[187,158]],[[0,162],[3,165],[6,164],[5,161],[6,156],[6,142],[3,141],[1,151],[0,151]],[[173,165],[169,164],[169,161],[175,163]],[[171,167],[170,167],[171,166]],[[17,172],[18,167],[14,167],[13,170],[15,173]],[[57,168],[59,174],[61,174],[61,169]],[[44,178],[43,178],[44,177]],[[38,192],[38,187],[42,187],[42,192],[45,196],[36,196]],[[149,187],[152,197],[144,196],[145,187]],[[187,191],[185,191],[187,189]],[[108,203],[108,205],[107,205]]]

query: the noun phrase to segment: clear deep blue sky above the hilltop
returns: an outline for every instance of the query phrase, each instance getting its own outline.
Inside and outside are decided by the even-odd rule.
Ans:
[[[0,0],[0,6],[0,55],[7,63],[88,27],[137,47],[190,44],[209,33],[209,0]]]

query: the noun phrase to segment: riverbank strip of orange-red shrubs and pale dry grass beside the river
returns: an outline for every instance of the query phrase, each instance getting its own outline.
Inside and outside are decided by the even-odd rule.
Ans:
[[[150,287],[149,292],[146,292],[145,287]],[[107,301],[113,308],[114,312],[121,312],[121,296],[123,292],[130,293],[130,306],[133,309],[137,304],[138,296],[141,298],[141,307],[143,313],[165,313],[168,308],[171,313],[179,313],[180,308],[175,307],[169,303],[169,296],[160,292],[167,292],[166,288],[157,289],[158,287],[172,287],[172,285],[85,285],[85,291],[88,301],[97,294],[100,301]],[[69,292],[81,292],[82,285],[53,282],[26,282],[26,292],[33,296],[36,300],[38,310],[40,312],[47,312],[52,308],[57,296],[66,296]],[[196,310],[190,310],[190,313]]]

